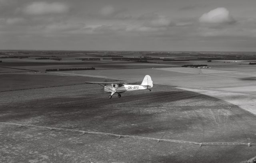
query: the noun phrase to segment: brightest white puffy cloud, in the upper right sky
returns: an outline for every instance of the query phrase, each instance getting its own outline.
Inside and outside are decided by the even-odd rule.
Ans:
[[[216,8],[208,13],[204,13],[199,18],[199,21],[206,24],[231,24],[235,22],[226,8]]]

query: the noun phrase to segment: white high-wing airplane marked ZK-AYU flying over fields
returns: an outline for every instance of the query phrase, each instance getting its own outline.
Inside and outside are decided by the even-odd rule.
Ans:
[[[149,75],[146,75],[140,85],[129,85],[126,82],[115,82],[115,81],[109,81],[109,82],[85,82],[90,84],[99,84],[100,86],[104,87],[104,91],[107,93],[110,93],[108,98],[112,98],[114,94],[118,94],[118,97],[121,97],[121,93],[131,90],[142,90],[142,89],[148,89],[151,91],[150,88],[153,87],[153,81],[151,80],[151,77]]]

